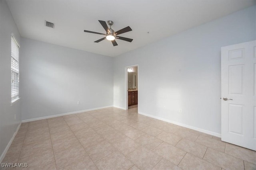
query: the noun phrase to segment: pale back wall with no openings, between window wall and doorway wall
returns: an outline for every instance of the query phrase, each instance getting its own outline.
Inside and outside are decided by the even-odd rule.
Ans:
[[[26,38],[21,43],[22,120],[113,105],[112,57]]]

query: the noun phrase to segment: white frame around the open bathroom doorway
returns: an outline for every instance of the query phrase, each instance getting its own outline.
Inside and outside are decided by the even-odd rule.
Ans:
[[[125,88],[124,106],[126,110],[128,110],[128,68],[130,67],[137,67],[137,79],[138,79],[137,84],[139,86],[139,64],[126,66],[124,68],[124,77],[125,77],[124,78],[124,88]],[[138,87],[136,88],[138,89]],[[139,101],[139,91],[138,91],[138,101]],[[138,105],[138,110],[139,110],[139,105]]]

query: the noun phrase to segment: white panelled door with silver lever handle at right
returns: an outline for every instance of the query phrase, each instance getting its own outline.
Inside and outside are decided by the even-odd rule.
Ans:
[[[221,48],[221,139],[256,150],[256,41]]]

